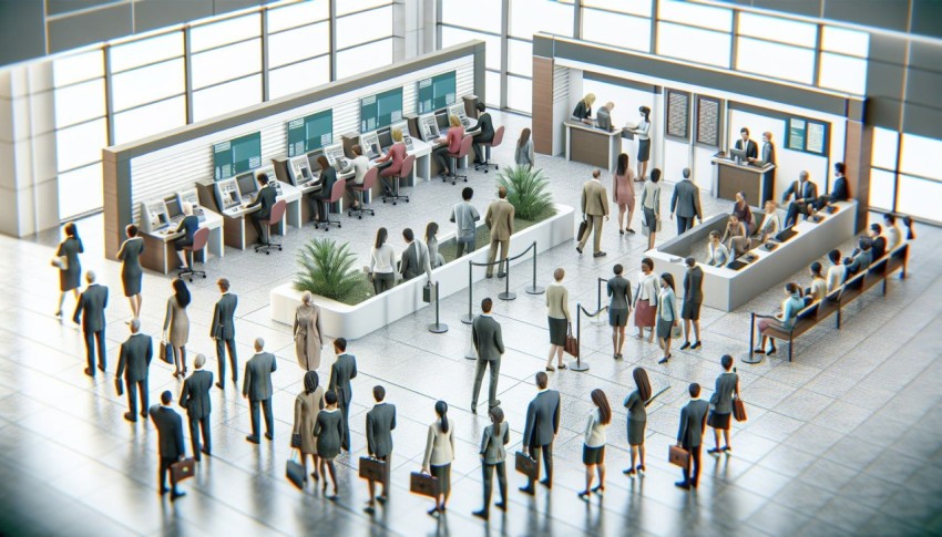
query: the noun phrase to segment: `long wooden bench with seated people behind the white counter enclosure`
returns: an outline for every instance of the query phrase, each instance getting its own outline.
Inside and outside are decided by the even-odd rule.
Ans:
[[[895,271],[900,270],[900,278],[905,277],[907,262],[909,261],[909,244],[903,242],[893,251],[884,255],[876,262],[871,264],[867,270],[862,270],[839,287],[822,300],[811,302],[802,308],[795,317],[795,322],[790,330],[786,330],[780,326],[768,327],[759,332],[759,335],[774,338],[788,343],[788,361],[791,361],[795,339],[815,328],[818,323],[837,313],[836,328],[841,328],[841,310],[867,290],[878,283],[883,283],[883,296],[887,295],[887,280]],[[774,316],[765,316],[752,312],[751,327],[749,328],[749,358],[752,357],[752,350],[756,343],[756,319],[772,319]]]

